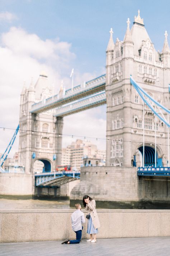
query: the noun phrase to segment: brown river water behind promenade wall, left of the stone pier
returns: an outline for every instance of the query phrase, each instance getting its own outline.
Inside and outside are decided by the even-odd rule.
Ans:
[[[69,200],[47,201],[33,199],[6,199],[0,198],[0,210],[31,210],[31,209],[72,209]]]

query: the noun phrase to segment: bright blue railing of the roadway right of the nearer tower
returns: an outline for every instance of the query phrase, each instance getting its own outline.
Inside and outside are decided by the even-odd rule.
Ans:
[[[138,167],[138,176],[170,176],[170,167]]]

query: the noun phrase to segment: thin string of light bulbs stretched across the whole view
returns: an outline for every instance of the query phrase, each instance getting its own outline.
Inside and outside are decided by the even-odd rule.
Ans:
[[[14,128],[9,128],[9,127],[0,127],[0,129],[3,129],[5,131],[6,130],[16,130]],[[45,133],[45,132],[42,132],[42,131],[32,131],[32,130],[22,130],[22,129],[18,129],[18,131],[22,131],[22,132],[26,132],[26,131],[29,131],[29,132],[32,132],[32,133]],[[96,139],[96,140],[110,140],[112,142],[120,142],[120,139],[106,139],[106,138],[95,138],[95,137],[90,137],[90,136],[80,136],[80,135],[70,135],[70,134],[58,134],[58,133],[46,133],[46,134],[53,134],[53,135],[58,135],[58,137],[60,137],[61,135],[62,136],[71,136],[72,138],[73,137],[77,137],[77,138],[88,138],[88,139]],[[141,141],[129,141],[129,140],[122,140],[122,142],[130,142],[130,143],[139,143],[140,145],[142,145],[143,143]],[[150,143],[150,145],[152,145],[152,143]],[[167,144],[158,144],[157,145],[160,145],[160,146],[168,146]]]

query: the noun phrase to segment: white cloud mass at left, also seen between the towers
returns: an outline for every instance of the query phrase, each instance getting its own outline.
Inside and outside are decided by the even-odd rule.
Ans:
[[[69,78],[72,60],[71,44],[56,40],[42,40],[36,34],[29,34],[22,28],[11,27],[1,35],[0,41],[0,126],[15,128],[19,122],[20,93],[23,81],[28,87],[33,77],[35,83],[42,70],[49,77],[49,83],[55,81],[55,91],[64,86],[71,87]],[[63,76],[63,74],[67,76]],[[75,69],[74,85],[96,77],[96,73],[80,73]],[[99,107],[64,118],[63,133],[91,137],[105,137],[105,108]],[[0,153],[3,153],[14,131],[0,130]],[[75,140],[76,138],[73,138]],[[63,137],[63,146],[69,145],[72,138]],[[104,148],[105,141],[93,141]],[[18,139],[12,154],[18,151]]]

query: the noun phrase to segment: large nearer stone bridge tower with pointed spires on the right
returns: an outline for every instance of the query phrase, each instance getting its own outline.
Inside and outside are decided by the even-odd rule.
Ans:
[[[156,51],[145,29],[143,19],[134,17],[123,41],[113,42],[112,29],[106,50],[107,95],[107,166],[141,166],[143,125],[145,125],[145,165],[155,165],[155,122],[157,166],[167,165],[167,128],[145,105],[130,84],[130,75],[154,99],[169,105],[170,49],[165,32],[162,52]],[[159,109],[157,109],[159,111]]]

